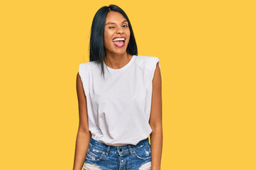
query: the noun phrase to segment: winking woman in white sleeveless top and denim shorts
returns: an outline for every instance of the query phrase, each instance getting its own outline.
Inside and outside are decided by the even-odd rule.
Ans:
[[[89,59],[79,64],[77,74],[79,129],[73,169],[160,170],[160,60],[138,55],[128,16],[118,6],[96,12]]]

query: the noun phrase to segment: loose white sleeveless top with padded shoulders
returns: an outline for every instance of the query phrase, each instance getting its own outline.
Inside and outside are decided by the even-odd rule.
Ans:
[[[95,61],[79,64],[91,137],[106,145],[137,145],[150,128],[152,79],[157,57],[133,55],[120,69]],[[109,71],[109,72],[108,72]]]

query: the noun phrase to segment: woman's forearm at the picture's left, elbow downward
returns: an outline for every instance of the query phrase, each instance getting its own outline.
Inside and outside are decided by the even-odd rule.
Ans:
[[[90,140],[91,132],[84,132],[83,130],[78,130],[73,170],[82,169]]]

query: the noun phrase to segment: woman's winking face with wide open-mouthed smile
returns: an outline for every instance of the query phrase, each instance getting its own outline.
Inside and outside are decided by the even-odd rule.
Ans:
[[[126,52],[129,40],[130,29],[126,18],[117,11],[109,11],[106,15],[104,30],[106,52],[122,55]]]

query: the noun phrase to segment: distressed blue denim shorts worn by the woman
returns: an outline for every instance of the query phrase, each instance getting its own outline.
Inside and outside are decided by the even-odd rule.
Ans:
[[[110,146],[91,138],[83,170],[151,170],[148,138],[137,145]]]

